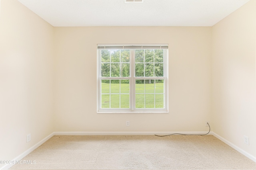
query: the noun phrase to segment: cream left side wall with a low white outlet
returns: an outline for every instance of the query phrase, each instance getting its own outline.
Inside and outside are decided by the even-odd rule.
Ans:
[[[18,1],[1,0],[0,160],[12,160],[53,132],[53,34]]]

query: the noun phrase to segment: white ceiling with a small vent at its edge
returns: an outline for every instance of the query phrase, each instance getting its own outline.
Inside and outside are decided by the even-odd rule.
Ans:
[[[55,27],[212,26],[250,0],[18,0]]]

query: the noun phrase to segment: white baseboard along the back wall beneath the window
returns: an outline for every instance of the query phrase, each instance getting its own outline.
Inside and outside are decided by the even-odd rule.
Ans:
[[[54,132],[54,135],[170,135],[174,133],[181,133],[184,135],[203,135],[208,133],[208,131],[200,131],[200,132],[129,132],[129,131],[117,131],[117,132]],[[210,133],[209,133],[210,135]]]

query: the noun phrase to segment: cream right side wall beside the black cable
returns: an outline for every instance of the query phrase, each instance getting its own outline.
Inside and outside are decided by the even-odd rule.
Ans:
[[[214,25],[212,37],[214,132],[256,156],[256,1]]]

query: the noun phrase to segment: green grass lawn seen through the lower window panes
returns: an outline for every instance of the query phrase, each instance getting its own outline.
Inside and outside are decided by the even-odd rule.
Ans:
[[[106,80],[104,80],[106,81]],[[119,84],[119,80],[112,80],[111,86],[109,83],[103,83],[101,95],[102,108],[129,108],[130,94],[129,84]],[[135,87],[136,108],[163,108],[164,107],[164,84],[136,84]],[[158,94],[154,94],[158,93]],[[111,93],[111,94],[110,94]],[[118,93],[118,94],[113,94]],[[120,93],[120,94],[119,94]],[[153,93],[153,94],[149,94]],[[156,104],[156,105],[155,105]],[[155,106],[154,106],[155,105]]]

